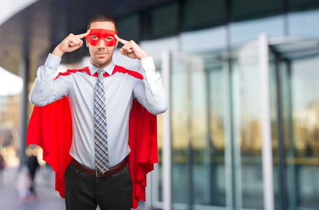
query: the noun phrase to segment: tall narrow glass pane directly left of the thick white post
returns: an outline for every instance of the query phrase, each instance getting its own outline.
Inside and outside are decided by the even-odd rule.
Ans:
[[[232,64],[235,200],[238,208],[263,208],[260,87],[257,48],[238,52]]]

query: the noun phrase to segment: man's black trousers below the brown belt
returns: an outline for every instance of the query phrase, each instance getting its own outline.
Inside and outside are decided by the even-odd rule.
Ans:
[[[128,165],[109,177],[97,178],[69,164],[65,170],[66,210],[130,210],[132,179]]]

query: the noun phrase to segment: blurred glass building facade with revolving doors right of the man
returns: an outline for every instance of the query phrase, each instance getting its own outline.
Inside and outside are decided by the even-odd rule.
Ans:
[[[318,19],[317,0],[174,1],[118,19],[169,87],[146,207],[318,209]]]

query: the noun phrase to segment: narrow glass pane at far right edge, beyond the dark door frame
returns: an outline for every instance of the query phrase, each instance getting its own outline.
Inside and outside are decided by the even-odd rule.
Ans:
[[[315,182],[319,176],[318,65],[319,56],[291,62],[294,141],[290,146],[294,148],[294,156],[287,157],[290,172],[293,171],[287,172],[287,177],[296,187],[294,193],[288,194],[296,196],[297,206],[313,209],[319,205],[319,185]]]

